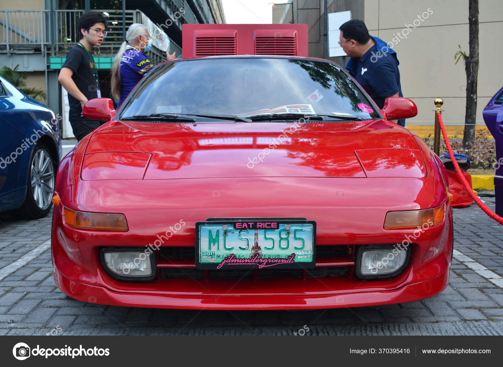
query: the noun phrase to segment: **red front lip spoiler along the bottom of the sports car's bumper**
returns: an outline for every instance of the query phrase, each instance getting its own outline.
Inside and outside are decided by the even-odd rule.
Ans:
[[[449,269],[446,269],[431,279],[383,291],[348,290],[337,295],[153,295],[122,293],[81,283],[63,275],[56,266],[53,269],[59,289],[79,301],[124,307],[191,310],[305,310],[397,304],[436,296],[449,283]]]

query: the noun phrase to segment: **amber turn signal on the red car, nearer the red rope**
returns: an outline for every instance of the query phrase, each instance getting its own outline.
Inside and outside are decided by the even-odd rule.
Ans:
[[[385,230],[418,228],[440,224],[445,218],[445,204],[422,210],[389,211],[384,219]]]

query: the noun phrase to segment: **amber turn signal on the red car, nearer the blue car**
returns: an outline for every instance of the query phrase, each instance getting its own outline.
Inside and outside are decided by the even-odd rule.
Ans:
[[[91,231],[128,230],[126,217],[117,213],[92,213],[64,208],[64,221],[67,226]]]

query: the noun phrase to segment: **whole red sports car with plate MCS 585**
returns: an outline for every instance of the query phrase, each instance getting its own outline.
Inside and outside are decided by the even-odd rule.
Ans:
[[[319,309],[432,297],[453,251],[447,173],[336,63],[215,56],[152,69],[62,160],[54,279],[104,305]]]

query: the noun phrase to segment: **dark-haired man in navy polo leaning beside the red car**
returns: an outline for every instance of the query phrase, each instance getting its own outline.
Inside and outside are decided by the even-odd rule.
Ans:
[[[382,109],[386,98],[403,97],[396,52],[380,38],[369,35],[365,23],[359,19],[352,19],[339,29],[339,44],[351,57],[346,69],[377,106]],[[397,123],[405,126],[404,119]]]

